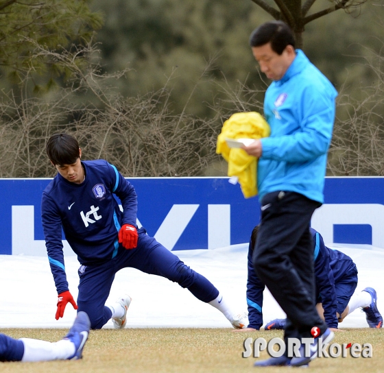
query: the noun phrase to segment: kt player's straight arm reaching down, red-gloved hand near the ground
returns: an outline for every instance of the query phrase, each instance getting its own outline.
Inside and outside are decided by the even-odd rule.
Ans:
[[[74,309],[77,309],[77,304],[69,291],[67,274],[65,273],[60,215],[56,212],[56,204],[46,193],[43,193],[41,218],[43,221],[49,266],[51,267],[56,291],[58,292],[58,309],[56,310],[55,316],[56,320],[58,320],[59,317],[63,317],[67,303],[71,303]]]

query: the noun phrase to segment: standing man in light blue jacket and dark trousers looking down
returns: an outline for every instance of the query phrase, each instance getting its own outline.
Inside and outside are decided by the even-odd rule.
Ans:
[[[337,92],[331,82],[295,49],[291,29],[282,21],[256,28],[250,46],[261,71],[272,79],[264,99],[269,137],[242,148],[259,158],[257,186],[261,202],[259,239],[254,248],[256,274],[287,314],[289,338],[316,338],[300,357],[256,362],[258,366],[306,365],[316,348],[329,343],[332,330],[315,308],[313,250],[309,224],[324,202],[326,157],[335,120]]]

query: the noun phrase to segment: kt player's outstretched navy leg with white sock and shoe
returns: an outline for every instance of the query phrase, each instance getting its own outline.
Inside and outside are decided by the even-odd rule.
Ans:
[[[153,237],[149,237],[145,230],[139,230],[136,249],[128,251],[125,261],[119,262],[121,268],[133,267],[147,274],[155,274],[178,282],[181,287],[191,291],[198,300],[211,304],[221,311],[235,328],[248,325],[246,313],[235,310],[226,296],[219,293],[211,281],[185,265],[178,256]]]

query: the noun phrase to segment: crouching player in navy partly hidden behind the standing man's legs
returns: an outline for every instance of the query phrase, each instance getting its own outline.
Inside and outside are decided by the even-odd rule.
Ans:
[[[259,226],[252,231],[248,250],[247,302],[249,324],[242,330],[259,330],[263,325],[263,291],[265,286],[254,273],[252,253]],[[383,317],[376,306],[376,291],[366,287],[354,293],[357,287],[357,267],[350,256],[324,245],[319,232],[310,228],[313,237],[313,258],[317,311],[333,331],[344,317],[361,308],[370,328],[381,328]],[[285,319],[276,319],[265,325],[265,330],[284,329]]]

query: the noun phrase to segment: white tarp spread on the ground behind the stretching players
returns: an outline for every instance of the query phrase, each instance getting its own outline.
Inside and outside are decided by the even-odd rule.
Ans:
[[[374,287],[379,311],[384,313],[384,250],[370,245],[332,245],[351,256],[359,270],[357,291]],[[246,309],[248,244],[232,245],[215,250],[177,251],[184,263],[206,276],[237,309]],[[66,258],[65,267],[70,291],[77,298],[75,256]],[[211,327],[230,328],[226,318],[212,306],[195,299],[187,289],[165,278],[143,274],[136,269],[117,273],[107,304],[128,293],[132,304],[128,311],[128,328],[146,327]],[[57,293],[47,257],[0,255],[0,328],[68,328],[75,317],[71,304],[63,319],[55,320]],[[280,306],[265,291],[264,322],[285,317]],[[108,322],[106,328],[112,328]],[[368,327],[365,313],[357,309],[340,327]]]

